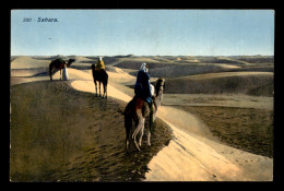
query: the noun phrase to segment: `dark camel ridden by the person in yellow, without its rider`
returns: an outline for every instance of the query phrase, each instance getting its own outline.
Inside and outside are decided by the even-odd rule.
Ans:
[[[104,95],[105,95],[105,98],[107,99],[107,82],[108,82],[108,74],[106,72],[105,69],[99,69],[99,70],[96,70],[95,69],[95,64],[92,64],[91,67],[92,69],[92,73],[93,73],[93,79],[94,79],[94,83],[95,83],[95,86],[96,86],[96,96],[97,96],[97,84],[96,84],[96,81],[98,81],[98,84],[99,84],[99,97],[100,97],[100,83],[103,83],[103,86],[104,86],[104,94],[103,94],[103,98],[104,98]]]

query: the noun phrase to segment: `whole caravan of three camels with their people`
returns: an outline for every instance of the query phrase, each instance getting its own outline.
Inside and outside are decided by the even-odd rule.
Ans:
[[[67,68],[70,67],[74,59],[69,59],[66,63],[62,59],[56,59],[49,64],[50,81],[52,81],[52,70],[60,70],[60,80],[68,80]],[[61,70],[63,70],[63,76],[61,76]],[[105,70],[105,63],[103,58],[99,57],[96,64],[91,65],[93,80],[95,83],[96,96],[97,96],[97,82],[99,84],[99,97],[100,97],[100,84],[103,83],[104,93],[102,98],[107,99],[107,83],[108,74]],[[134,86],[134,97],[127,104],[125,109],[125,128],[126,128],[126,151],[129,152],[129,145],[131,139],[133,140],[137,150],[141,151],[142,138],[144,131],[147,134],[147,146],[151,146],[151,133],[153,132],[153,123],[156,118],[157,108],[163,100],[163,93],[165,89],[165,80],[158,79],[155,86],[150,83],[149,64],[142,63]],[[134,126],[133,126],[134,123]],[[131,134],[132,133],[132,134]],[[140,134],[139,140],[137,136]]]

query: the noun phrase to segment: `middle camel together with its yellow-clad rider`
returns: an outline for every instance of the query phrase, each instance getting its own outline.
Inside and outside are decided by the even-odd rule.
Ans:
[[[97,81],[99,84],[99,97],[100,97],[100,83],[103,83],[103,87],[104,87],[104,94],[103,94],[103,98],[107,98],[107,83],[108,83],[108,74],[106,72],[106,68],[105,68],[105,63],[103,61],[103,58],[99,57],[97,60],[96,64],[92,64],[91,65],[92,69],[92,74],[93,74],[93,80],[95,83],[95,88],[96,88],[96,96],[97,96]]]

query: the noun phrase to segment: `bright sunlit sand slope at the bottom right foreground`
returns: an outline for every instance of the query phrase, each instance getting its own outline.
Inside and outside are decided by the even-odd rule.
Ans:
[[[167,123],[175,139],[150,162],[147,181],[273,180],[272,159],[193,136]]]

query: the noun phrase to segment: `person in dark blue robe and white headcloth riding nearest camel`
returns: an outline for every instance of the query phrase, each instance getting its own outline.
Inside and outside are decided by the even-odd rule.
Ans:
[[[153,100],[152,96],[154,95],[154,86],[150,84],[150,75],[147,74],[149,64],[142,63],[138,76],[137,83],[134,87],[135,97],[142,98],[145,100],[150,108],[150,130],[152,131],[153,123]]]

